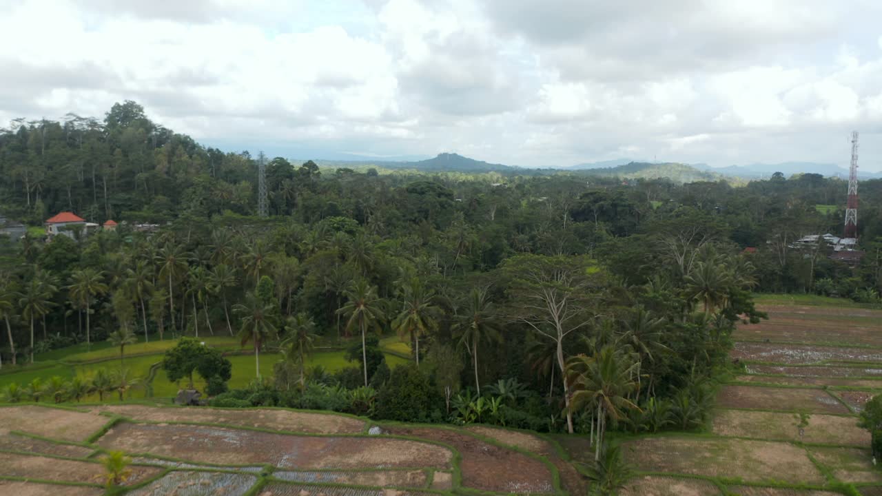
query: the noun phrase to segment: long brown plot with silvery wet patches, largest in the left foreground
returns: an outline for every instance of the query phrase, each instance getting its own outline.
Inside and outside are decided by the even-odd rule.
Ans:
[[[288,469],[450,468],[444,447],[412,440],[315,437],[200,425],[116,425],[101,447],[190,462]]]

